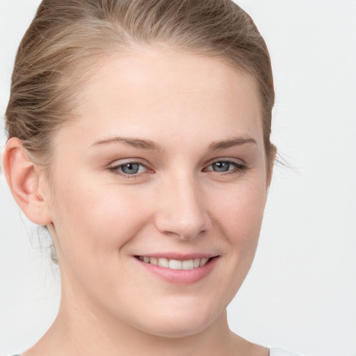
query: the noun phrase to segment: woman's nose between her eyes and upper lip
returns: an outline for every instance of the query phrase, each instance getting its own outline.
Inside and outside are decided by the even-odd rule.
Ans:
[[[189,240],[211,229],[204,192],[194,177],[175,177],[161,185],[156,197],[156,228]]]

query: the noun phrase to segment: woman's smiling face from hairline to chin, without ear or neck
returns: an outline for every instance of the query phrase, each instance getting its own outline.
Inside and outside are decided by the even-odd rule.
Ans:
[[[138,330],[195,334],[225,311],[257,247],[268,181],[257,88],[180,52],[97,68],[54,138],[63,293]]]

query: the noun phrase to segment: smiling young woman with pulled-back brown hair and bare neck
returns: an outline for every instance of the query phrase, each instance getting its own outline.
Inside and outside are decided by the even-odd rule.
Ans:
[[[270,58],[227,0],[42,1],[20,44],[3,166],[60,268],[22,355],[291,355],[226,307],[272,175]]]

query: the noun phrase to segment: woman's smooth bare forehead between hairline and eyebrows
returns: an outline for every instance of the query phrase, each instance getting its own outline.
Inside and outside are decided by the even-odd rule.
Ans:
[[[214,140],[231,130],[262,138],[256,83],[220,58],[150,49],[99,60],[91,73],[74,120],[81,136],[95,127],[103,137],[210,129]]]

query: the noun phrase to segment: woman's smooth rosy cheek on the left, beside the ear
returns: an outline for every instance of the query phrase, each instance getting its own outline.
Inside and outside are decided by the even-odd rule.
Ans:
[[[90,264],[92,257],[116,256],[145,222],[142,205],[129,191],[90,177],[58,181],[54,225],[60,248],[74,260],[91,259]]]

